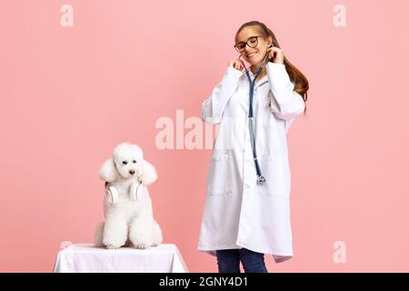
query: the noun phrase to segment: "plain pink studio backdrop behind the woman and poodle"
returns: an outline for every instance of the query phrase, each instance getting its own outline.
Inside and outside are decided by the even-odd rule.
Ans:
[[[60,25],[62,5],[74,26]],[[333,23],[346,8],[346,26]],[[3,0],[0,5],[0,271],[50,272],[64,241],[103,218],[97,171],[115,145],[142,146],[165,243],[191,272],[209,149],[155,146],[162,116],[200,116],[260,20],[307,76],[308,115],[288,135],[294,258],[270,272],[409,271],[407,1]],[[179,128],[180,130],[180,128]],[[183,128],[182,128],[183,130]],[[185,129],[185,134],[188,130]],[[176,135],[176,132],[175,132]],[[346,262],[334,262],[343,242]]]

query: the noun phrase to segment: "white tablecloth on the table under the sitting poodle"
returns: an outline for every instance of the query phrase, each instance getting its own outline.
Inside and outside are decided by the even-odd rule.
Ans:
[[[91,244],[74,244],[58,252],[55,273],[186,273],[177,246],[162,244],[145,249],[105,249]]]

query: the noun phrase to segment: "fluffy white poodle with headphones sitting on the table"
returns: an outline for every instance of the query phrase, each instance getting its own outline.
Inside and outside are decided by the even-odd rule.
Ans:
[[[105,181],[105,223],[95,230],[95,246],[146,248],[162,243],[162,230],[154,219],[152,200],[145,186],[155,182],[155,167],[144,160],[139,146],[115,147],[99,171]]]

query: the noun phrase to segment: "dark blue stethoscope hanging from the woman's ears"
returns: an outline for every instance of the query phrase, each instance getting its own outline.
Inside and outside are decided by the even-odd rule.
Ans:
[[[273,47],[274,45],[270,45],[269,47]],[[249,110],[248,110],[248,118],[249,118],[249,127],[250,127],[250,138],[251,138],[251,143],[252,143],[252,150],[253,150],[253,158],[254,158],[254,165],[255,165],[255,171],[257,173],[257,184],[262,185],[265,182],[265,177],[262,175],[260,165],[258,164],[258,159],[257,159],[257,153],[255,151],[255,136],[254,136],[254,114],[253,114],[253,96],[254,96],[254,85],[255,85],[255,80],[257,77],[261,74],[263,71],[263,68],[265,66],[265,59],[268,59],[268,55],[270,55],[269,52],[264,56],[263,63],[260,65],[258,68],[257,72],[254,74],[254,79],[252,80],[250,73],[248,72],[247,67],[244,65],[244,62],[240,59],[242,55],[239,56],[239,61],[242,62],[244,65],[245,69],[245,75],[247,75],[248,83],[250,85],[249,88]]]

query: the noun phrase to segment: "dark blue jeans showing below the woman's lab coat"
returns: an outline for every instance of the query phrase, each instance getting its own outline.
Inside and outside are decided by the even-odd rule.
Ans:
[[[216,250],[219,273],[240,273],[240,261],[245,273],[268,273],[264,254],[246,248]]]

